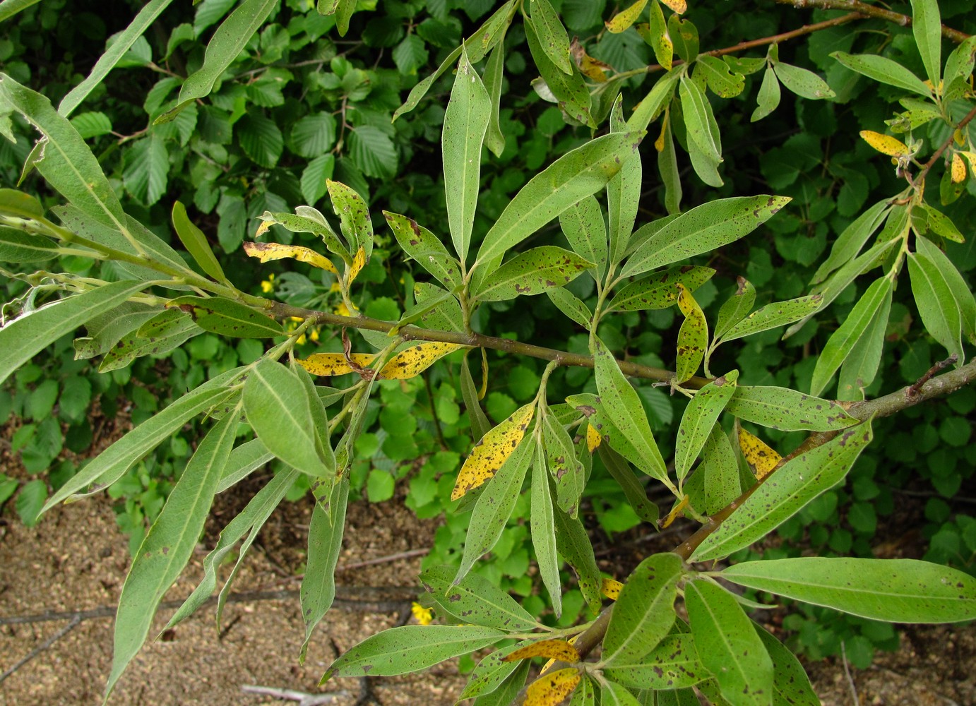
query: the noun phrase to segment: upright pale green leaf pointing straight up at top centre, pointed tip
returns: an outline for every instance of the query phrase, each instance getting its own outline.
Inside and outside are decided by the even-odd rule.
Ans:
[[[471,226],[481,178],[481,144],[491,119],[492,103],[481,77],[462,50],[458,75],[444,113],[441,138],[447,222],[454,249],[468,260]]]

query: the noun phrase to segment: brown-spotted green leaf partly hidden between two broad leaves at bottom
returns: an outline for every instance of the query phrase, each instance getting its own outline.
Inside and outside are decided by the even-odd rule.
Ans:
[[[673,608],[670,610],[673,615]],[[621,659],[609,666],[605,673],[620,684],[658,691],[687,688],[710,676],[698,658],[695,639],[690,633],[671,633],[647,654],[632,662]],[[665,703],[660,698],[659,693],[659,703]],[[698,697],[694,699],[692,703],[697,706]]]

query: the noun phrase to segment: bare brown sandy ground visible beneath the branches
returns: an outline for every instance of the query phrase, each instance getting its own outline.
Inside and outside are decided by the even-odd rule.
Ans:
[[[10,470],[16,473],[16,469]],[[196,585],[207,549],[246,502],[249,491],[260,487],[261,479],[253,483],[257,484],[253,488],[245,486],[219,498],[204,540],[190,568],[167,594],[168,601],[184,598]],[[34,529],[20,524],[11,505],[0,515],[0,672],[69,624],[67,618],[4,624],[3,618],[110,608],[118,599],[129,563],[127,540],[116,529],[105,497],[58,507]],[[220,632],[214,608],[209,607],[163,633],[130,665],[111,703],[296,703],[243,690],[244,686],[264,686],[333,693],[331,703],[340,705],[453,704],[465,684],[455,662],[427,674],[368,682],[336,680],[317,686],[338,653],[410,619],[418,556],[340,570],[337,605],[316,631],[305,664],[299,664],[304,627],[296,574],[304,561],[309,514],[307,503],[283,504],[248,555],[234,590],[264,592],[263,600],[229,604]],[[380,504],[352,503],[347,522],[341,567],[423,550],[436,529],[436,522],[418,521],[395,499]],[[646,546],[642,548],[647,551]],[[601,559],[609,563],[619,557],[604,553]],[[266,598],[275,591],[279,592],[276,599]],[[103,612],[101,617],[80,621],[0,683],[0,704],[98,703],[112,650],[111,613]],[[163,629],[172,612],[173,608],[160,610],[153,634]],[[976,704],[974,667],[976,625],[970,625],[908,628],[897,652],[878,654],[870,669],[851,668],[849,677],[840,660],[811,664],[809,671],[828,706],[972,706]],[[375,701],[364,698],[369,694]]]

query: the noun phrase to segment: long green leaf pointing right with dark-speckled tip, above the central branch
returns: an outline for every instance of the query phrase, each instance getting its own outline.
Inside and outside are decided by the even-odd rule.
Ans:
[[[790,201],[789,196],[763,195],[715,199],[702,204],[673,218],[642,243],[630,255],[621,276],[631,277],[677,260],[710,253],[751,233]],[[635,240],[648,225],[634,233]]]

